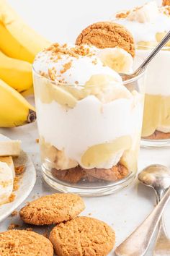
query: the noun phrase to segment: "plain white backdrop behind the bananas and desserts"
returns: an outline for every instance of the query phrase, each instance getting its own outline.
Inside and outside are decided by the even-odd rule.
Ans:
[[[122,9],[148,0],[9,0],[9,3],[40,34],[58,43],[74,42],[82,29],[108,21]]]

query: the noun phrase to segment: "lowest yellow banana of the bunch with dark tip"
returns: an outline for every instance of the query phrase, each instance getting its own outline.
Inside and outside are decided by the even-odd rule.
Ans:
[[[35,119],[35,108],[17,90],[0,80],[0,127],[17,127]]]

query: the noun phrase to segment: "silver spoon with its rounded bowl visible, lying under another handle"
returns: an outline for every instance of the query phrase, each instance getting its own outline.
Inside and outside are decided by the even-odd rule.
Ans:
[[[156,202],[161,201],[165,190],[170,187],[170,169],[160,164],[146,167],[138,175],[140,182],[148,187],[152,187],[156,193]],[[164,218],[159,221],[158,237],[156,239],[156,245],[153,250],[153,255],[170,255],[170,239],[166,234],[164,226]]]

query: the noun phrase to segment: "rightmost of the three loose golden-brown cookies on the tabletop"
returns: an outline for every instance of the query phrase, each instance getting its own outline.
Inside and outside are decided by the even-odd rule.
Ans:
[[[76,217],[50,232],[58,256],[107,255],[115,245],[115,232],[103,221]]]

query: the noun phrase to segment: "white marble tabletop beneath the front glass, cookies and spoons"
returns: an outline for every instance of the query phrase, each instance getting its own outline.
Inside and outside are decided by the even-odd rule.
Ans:
[[[40,195],[48,195],[54,192],[41,179],[39,145],[35,142],[38,137],[36,123],[13,129],[0,129],[0,132],[12,139],[22,140],[22,148],[29,153],[35,164],[37,182],[25,202],[33,200]],[[140,150],[139,170],[151,163],[161,163],[170,167],[170,149]],[[91,213],[92,217],[99,218],[112,226],[116,232],[116,244],[120,244],[146,218],[155,205],[153,191],[148,187],[138,184],[137,180],[130,187],[117,192],[115,195],[91,198],[84,197],[84,200],[86,202],[86,210],[84,210],[82,215],[88,216]],[[23,205],[20,205],[19,208]],[[165,211],[166,227],[170,236],[169,214],[170,203]],[[19,220],[19,216],[9,217],[0,223],[0,231],[5,231],[9,223],[19,223],[21,228],[24,227],[22,221]],[[45,228],[35,229],[34,227],[33,230],[42,233],[45,231]],[[114,252],[110,255],[114,255]],[[152,247],[146,255],[152,255]]]

